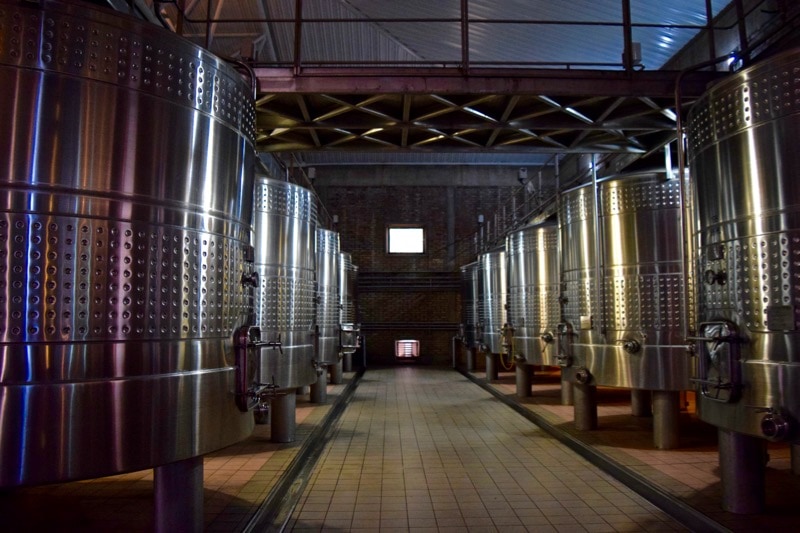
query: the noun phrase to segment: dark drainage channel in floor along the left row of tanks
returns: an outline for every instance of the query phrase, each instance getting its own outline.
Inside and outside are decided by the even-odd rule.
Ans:
[[[336,421],[350,403],[363,375],[363,369],[356,372],[325,418],[305,439],[289,468],[283,473],[242,531],[248,533],[283,531],[308,484],[311,472],[314,470],[322,450],[333,436]]]

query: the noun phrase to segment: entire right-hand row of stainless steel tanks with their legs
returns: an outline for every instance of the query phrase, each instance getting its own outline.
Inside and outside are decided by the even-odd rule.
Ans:
[[[730,75],[688,113],[687,168],[594,175],[461,269],[469,370],[513,359],[527,396],[534,367],[560,367],[579,430],[597,386],[630,389],[664,449],[695,392],[739,513],[764,507],[767,441],[800,459],[797,72],[789,50]]]

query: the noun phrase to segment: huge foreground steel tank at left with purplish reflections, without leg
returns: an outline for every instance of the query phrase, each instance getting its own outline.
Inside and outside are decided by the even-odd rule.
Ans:
[[[3,1],[0,28],[0,486],[245,438],[252,90],[84,4]]]

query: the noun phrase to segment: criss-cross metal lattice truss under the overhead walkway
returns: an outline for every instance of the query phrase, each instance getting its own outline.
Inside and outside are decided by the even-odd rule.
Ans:
[[[524,94],[291,94],[258,99],[261,151],[644,153],[674,135],[673,101]]]

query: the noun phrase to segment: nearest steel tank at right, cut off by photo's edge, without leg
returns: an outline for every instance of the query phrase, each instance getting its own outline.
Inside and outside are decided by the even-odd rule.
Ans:
[[[798,442],[800,49],[712,87],[688,119],[696,203],[698,412]],[[705,339],[705,340],[703,340]]]

